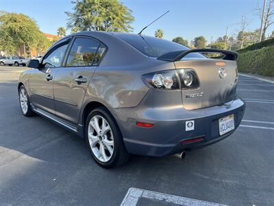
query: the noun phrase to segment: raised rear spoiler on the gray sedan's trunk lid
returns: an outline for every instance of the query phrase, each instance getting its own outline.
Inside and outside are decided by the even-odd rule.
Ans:
[[[166,60],[166,61],[179,61],[184,56],[190,54],[190,53],[197,53],[197,52],[203,52],[203,53],[221,53],[224,54],[225,56],[222,58],[223,60],[234,60],[236,61],[238,58],[238,53],[237,52],[232,52],[228,50],[223,50],[223,49],[189,49],[189,50],[177,50],[173,52],[168,52],[162,56],[159,56],[157,59],[158,60]]]

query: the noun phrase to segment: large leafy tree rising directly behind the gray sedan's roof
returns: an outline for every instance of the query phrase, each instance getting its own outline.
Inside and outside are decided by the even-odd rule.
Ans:
[[[73,0],[67,27],[77,31],[131,32],[132,10],[118,0]]]

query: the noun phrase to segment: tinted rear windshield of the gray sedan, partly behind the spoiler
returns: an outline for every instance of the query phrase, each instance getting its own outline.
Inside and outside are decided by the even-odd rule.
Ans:
[[[166,41],[161,38],[155,38],[151,36],[140,36],[134,34],[116,34],[123,41],[132,45],[135,49],[142,54],[151,57],[159,57],[168,52],[173,52],[177,50],[188,50],[188,47],[174,43],[172,41]],[[190,53],[184,57],[185,58],[206,58],[199,53]]]

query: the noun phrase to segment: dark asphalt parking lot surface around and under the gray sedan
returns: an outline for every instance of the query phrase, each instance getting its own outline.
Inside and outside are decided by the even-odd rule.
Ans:
[[[274,84],[240,76],[244,120],[218,144],[184,160],[133,156],[105,170],[84,139],[21,114],[17,79],[24,69],[0,67],[0,205],[134,205],[134,198],[137,205],[274,205]]]

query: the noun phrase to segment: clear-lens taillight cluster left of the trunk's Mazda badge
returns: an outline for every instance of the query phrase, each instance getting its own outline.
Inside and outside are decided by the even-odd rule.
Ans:
[[[199,80],[193,69],[171,69],[142,75],[148,87],[155,89],[197,89]]]

